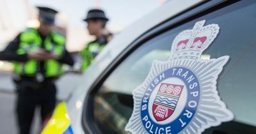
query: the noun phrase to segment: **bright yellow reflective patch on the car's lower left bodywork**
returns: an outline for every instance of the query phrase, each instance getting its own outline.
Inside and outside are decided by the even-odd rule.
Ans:
[[[61,102],[54,110],[51,119],[41,134],[62,134],[70,126],[65,102]]]

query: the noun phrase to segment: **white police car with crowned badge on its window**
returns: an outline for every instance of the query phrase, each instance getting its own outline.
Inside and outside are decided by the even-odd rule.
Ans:
[[[256,1],[166,2],[116,35],[42,133],[256,133]]]

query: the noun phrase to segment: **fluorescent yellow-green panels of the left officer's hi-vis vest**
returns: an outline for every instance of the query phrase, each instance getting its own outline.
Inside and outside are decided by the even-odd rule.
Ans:
[[[26,31],[20,34],[20,44],[17,49],[17,54],[28,54],[41,48],[42,39],[37,33],[36,29],[26,29]],[[54,54],[61,56],[65,49],[65,38],[56,32],[52,32],[51,35],[46,36],[44,40],[45,50],[54,52]],[[17,75],[25,75],[33,77],[38,71],[40,62],[35,59],[28,59],[25,63],[15,62],[14,71]],[[44,61],[45,73],[44,77],[56,77],[63,73],[62,64],[58,61],[49,59]]]

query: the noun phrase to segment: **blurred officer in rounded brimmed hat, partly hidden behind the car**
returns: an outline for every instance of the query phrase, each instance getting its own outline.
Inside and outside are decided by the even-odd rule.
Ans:
[[[108,20],[109,19],[102,10],[93,9],[88,11],[84,21],[87,22],[89,34],[95,36],[96,39],[87,43],[86,47],[80,52],[81,57],[83,57],[82,71],[86,70],[94,57],[99,54],[108,41],[113,37],[113,34],[106,29]]]

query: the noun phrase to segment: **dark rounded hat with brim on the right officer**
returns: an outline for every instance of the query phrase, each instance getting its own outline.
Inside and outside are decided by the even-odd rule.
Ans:
[[[106,17],[104,11],[100,9],[93,9],[88,11],[87,17],[84,19],[84,21],[88,21],[91,19],[102,19],[108,21],[108,18]]]

